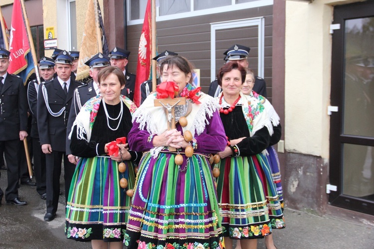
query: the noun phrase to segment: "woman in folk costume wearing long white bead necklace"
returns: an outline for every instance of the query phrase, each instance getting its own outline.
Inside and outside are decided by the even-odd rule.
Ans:
[[[134,187],[134,164],[141,157],[126,143],[136,106],[121,95],[125,77],[120,69],[102,69],[98,81],[101,95],[82,107],[69,137],[71,152],[80,159],[70,186],[65,234],[91,241],[92,248],[122,248],[131,200],[126,191]]]

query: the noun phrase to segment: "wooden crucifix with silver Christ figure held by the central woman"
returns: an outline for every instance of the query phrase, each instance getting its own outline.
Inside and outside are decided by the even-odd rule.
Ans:
[[[177,105],[185,105],[186,98],[165,98],[155,99],[155,106],[162,106],[165,108],[166,117],[168,120],[168,131],[176,128],[175,107]],[[169,151],[177,151],[176,148],[169,146]]]

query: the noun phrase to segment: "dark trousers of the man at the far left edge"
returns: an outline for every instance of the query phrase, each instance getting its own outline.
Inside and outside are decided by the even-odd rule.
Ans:
[[[4,155],[7,166],[6,173],[8,177],[8,186],[5,190],[5,200],[11,201],[18,198],[19,139],[0,141],[0,146],[4,146]]]

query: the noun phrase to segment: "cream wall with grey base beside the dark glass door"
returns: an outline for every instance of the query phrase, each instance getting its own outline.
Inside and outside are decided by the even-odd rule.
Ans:
[[[290,208],[336,213],[328,205],[326,194],[330,150],[327,115],[331,93],[330,24],[334,5],[352,2],[355,1],[286,1],[286,153],[279,154],[279,158],[285,202]],[[348,210],[346,213],[353,214]]]

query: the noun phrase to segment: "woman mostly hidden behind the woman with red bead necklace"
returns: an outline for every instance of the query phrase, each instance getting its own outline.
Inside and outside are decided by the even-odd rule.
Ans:
[[[279,160],[278,160],[278,154],[275,151],[273,145],[277,144],[281,138],[282,135],[282,127],[280,124],[280,118],[275,111],[273,105],[262,95],[259,95],[258,93],[254,92],[253,86],[255,82],[254,72],[252,69],[246,68],[246,76],[245,81],[241,87],[241,92],[245,95],[250,95],[255,98],[257,98],[264,106],[268,117],[270,118],[271,124],[273,125],[273,135],[270,137],[270,143],[269,147],[266,148],[267,154],[266,158],[269,162],[270,169],[271,169],[271,177],[272,181],[275,184],[278,198],[281,204],[281,209],[283,211],[283,190],[282,190],[282,184],[281,184],[281,174],[280,174],[280,166],[279,166]],[[273,210],[269,208],[269,216],[271,220],[275,220],[275,224],[272,223],[272,228],[275,229],[282,229],[284,228],[284,224],[280,222],[282,218],[282,214],[280,214],[277,210]],[[270,234],[265,237],[265,245],[267,249],[276,249],[273,241],[273,234]],[[237,249],[238,247],[236,247]]]

